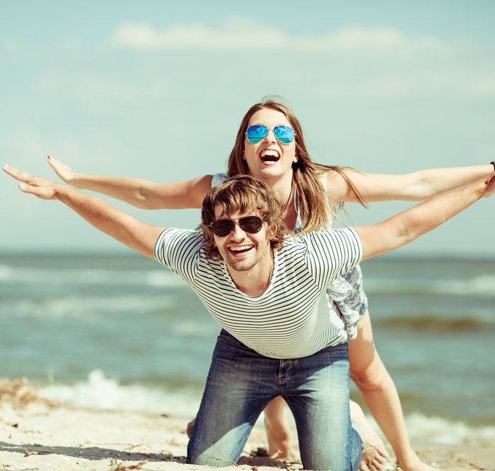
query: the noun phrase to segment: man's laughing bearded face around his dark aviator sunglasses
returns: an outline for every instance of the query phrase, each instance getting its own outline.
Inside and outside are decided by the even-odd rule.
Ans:
[[[216,247],[219,249],[223,260],[235,271],[247,271],[256,266],[264,257],[271,262],[272,253],[270,247],[267,223],[263,222],[260,232],[250,234],[240,228],[239,217],[260,216],[257,212],[223,214],[221,206],[215,208],[215,220],[233,219],[235,226],[231,233],[225,237],[214,234]]]

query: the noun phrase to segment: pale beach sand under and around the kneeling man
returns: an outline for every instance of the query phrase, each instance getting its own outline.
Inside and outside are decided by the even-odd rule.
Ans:
[[[214,469],[185,464],[186,426],[187,419],[177,417],[56,404],[39,398],[25,381],[0,381],[0,470]],[[224,469],[302,469],[297,461],[258,456],[264,446],[264,431],[255,428],[238,465]],[[417,452],[442,470],[495,470],[492,443],[428,446]]]

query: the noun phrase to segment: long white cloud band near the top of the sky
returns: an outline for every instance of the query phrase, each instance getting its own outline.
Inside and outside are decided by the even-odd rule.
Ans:
[[[243,18],[230,18],[219,28],[197,24],[157,30],[151,25],[127,23],[115,31],[112,44],[129,49],[318,52],[365,57],[445,54],[451,49],[450,44],[435,37],[407,37],[395,28],[349,26],[320,35],[291,35]]]

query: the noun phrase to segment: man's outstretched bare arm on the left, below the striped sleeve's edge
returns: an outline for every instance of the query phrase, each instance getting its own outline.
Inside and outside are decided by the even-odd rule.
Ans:
[[[136,220],[95,196],[69,188],[64,184],[35,177],[18,169],[4,165],[4,172],[18,181],[19,188],[46,200],[59,200],[102,232],[131,249],[154,258],[153,248],[165,227],[153,226]]]

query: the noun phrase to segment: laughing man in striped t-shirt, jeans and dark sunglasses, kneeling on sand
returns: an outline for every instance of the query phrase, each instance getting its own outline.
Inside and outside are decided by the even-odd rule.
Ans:
[[[26,193],[59,199],[174,270],[223,327],[188,463],[235,463],[260,412],[281,395],[296,419],[303,467],[333,471],[358,469],[363,443],[349,417],[347,335],[322,306],[327,286],[362,259],[411,242],[495,191],[492,175],[377,225],[285,237],[272,191],[252,177],[209,191],[201,233],[148,225],[64,185],[4,171]]]

